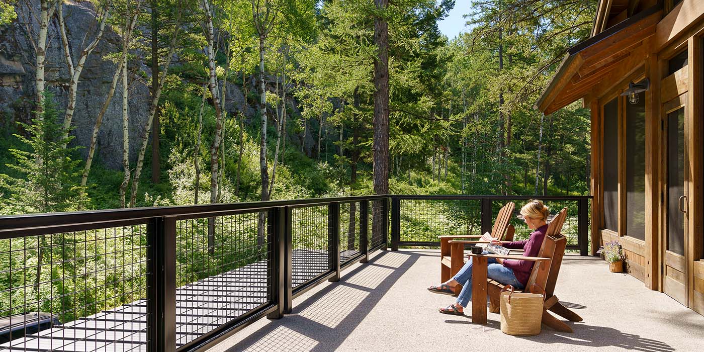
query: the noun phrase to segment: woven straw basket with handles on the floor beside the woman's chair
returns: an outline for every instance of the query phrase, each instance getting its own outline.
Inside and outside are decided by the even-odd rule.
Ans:
[[[534,285],[537,291],[543,291]],[[535,290],[535,289],[534,289]],[[540,334],[543,317],[543,294],[514,292],[508,285],[501,291],[501,332],[514,336]]]

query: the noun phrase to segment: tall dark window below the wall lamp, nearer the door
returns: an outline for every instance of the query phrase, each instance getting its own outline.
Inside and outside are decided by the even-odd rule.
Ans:
[[[646,238],[646,96],[626,105],[626,235]]]

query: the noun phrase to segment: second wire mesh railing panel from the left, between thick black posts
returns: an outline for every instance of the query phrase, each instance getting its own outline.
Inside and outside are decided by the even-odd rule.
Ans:
[[[270,301],[265,212],[177,221],[176,344]]]

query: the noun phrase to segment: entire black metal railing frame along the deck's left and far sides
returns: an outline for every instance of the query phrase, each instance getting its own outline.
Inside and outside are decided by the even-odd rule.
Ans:
[[[147,351],[175,351],[176,348],[176,246],[177,221],[194,218],[213,218],[241,213],[265,212],[268,221],[268,297],[267,303],[249,310],[203,334],[179,351],[203,351],[260,318],[279,319],[291,313],[292,300],[316,285],[329,280],[337,282],[340,272],[353,263],[367,263],[370,253],[398,246],[439,246],[439,242],[401,241],[402,200],[480,200],[482,202],[482,232],[490,231],[494,221],[491,202],[497,200],[522,200],[530,196],[354,196],[329,199],[301,199],[291,201],[265,201],[249,203],[209,204],[199,206],[172,206],[132,208],[119,210],[93,210],[74,213],[11,215],[0,217],[0,239],[30,237],[40,234],[58,234],[81,230],[96,230],[127,225],[147,225]],[[579,250],[586,255],[589,232],[589,199],[591,196],[547,196],[546,201],[578,201]],[[340,204],[358,203],[359,251],[356,256],[340,261]],[[375,211],[383,220],[378,243],[370,243],[372,223],[370,214]],[[328,270],[308,281],[292,287],[292,209],[327,206]],[[390,230],[390,231],[389,231]]]

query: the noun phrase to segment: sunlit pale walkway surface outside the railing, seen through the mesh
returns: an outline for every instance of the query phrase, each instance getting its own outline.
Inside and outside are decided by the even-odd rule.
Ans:
[[[342,251],[344,262],[356,251]],[[292,284],[308,281],[328,268],[327,251],[292,251]],[[176,344],[210,332],[267,301],[266,262],[185,284],[176,290]],[[0,351],[146,352],[146,301],[141,299],[36,334],[0,344]]]

